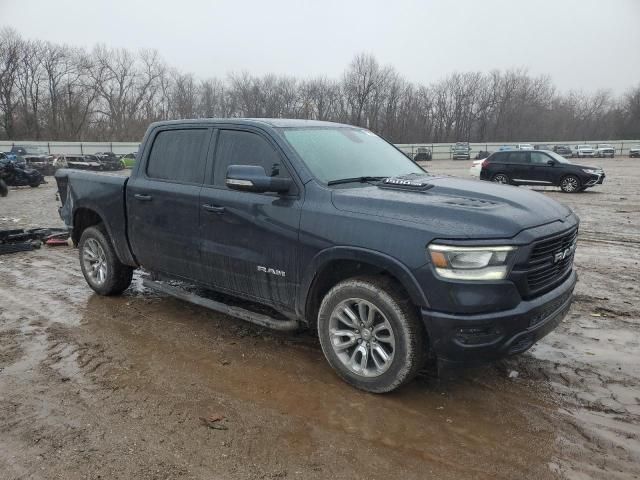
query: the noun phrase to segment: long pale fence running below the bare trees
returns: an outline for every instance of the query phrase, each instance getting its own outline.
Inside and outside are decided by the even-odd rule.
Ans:
[[[531,145],[568,145],[573,148],[574,145],[592,145],[608,144],[616,149],[616,155],[624,156],[629,154],[629,148],[633,145],[640,145],[640,140],[592,140],[585,141],[568,141],[568,142],[508,142],[508,143],[471,143],[471,156],[481,150],[494,152],[503,145],[515,146],[517,143],[530,143]],[[0,152],[8,152],[11,147],[38,145],[46,147],[49,153],[67,153],[67,154],[92,154],[96,152],[114,152],[117,154],[127,154],[136,152],[139,147],[137,142],[31,142],[31,141],[9,141],[0,140]],[[411,143],[397,144],[402,151],[411,154],[417,153],[420,147],[427,147],[433,152],[434,160],[444,160],[451,158],[451,147],[453,143]]]

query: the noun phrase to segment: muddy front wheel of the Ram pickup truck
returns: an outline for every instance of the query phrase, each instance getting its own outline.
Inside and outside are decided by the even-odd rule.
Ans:
[[[359,324],[363,317],[365,323]],[[332,331],[346,335],[332,335]],[[384,277],[350,278],[333,287],[320,305],[318,337],[338,376],[371,393],[391,392],[412,380],[428,350],[415,307]]]

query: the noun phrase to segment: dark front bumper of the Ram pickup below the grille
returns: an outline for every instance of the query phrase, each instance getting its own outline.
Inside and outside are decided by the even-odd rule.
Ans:
[[[495,313],[457,315],[423,308],[431,348],[444,366],[473,366],[522,353],[560,324],[576,281],[572,271],[552,291]]]

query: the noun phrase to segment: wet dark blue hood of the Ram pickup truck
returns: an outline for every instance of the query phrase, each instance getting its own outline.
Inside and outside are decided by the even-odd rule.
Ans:
[[[455,177],[410,178],[428,186],[340,188],[332,202],[338,210],[420,224],[436,238],[510,238],[527,228],[573,221],[570,209],[524,188]]]

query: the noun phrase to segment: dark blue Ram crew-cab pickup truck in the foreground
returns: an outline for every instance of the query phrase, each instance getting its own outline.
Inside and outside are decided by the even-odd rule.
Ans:
[[[130,177],[59,170],[56,181],[97,293],[123,292],[141,267],[146,286],[177,298],[306,325],[337,374],[369,392],[400,387],[427,360],[526,351],[565,317],[576,284],[569,208],[430,175],[349,125],[159,122]]]

